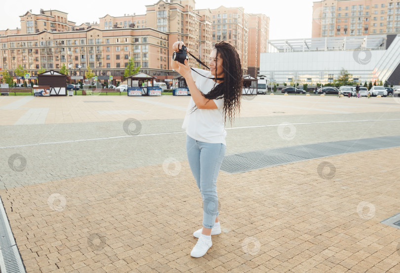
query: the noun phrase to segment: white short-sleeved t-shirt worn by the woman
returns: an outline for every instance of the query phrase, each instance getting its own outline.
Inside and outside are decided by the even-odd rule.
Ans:
[[[209,79],[214,78],[209,71],[198,68],[194,69],[207,77],[201,77],[192,70],[192,78],[202,93],[208,94],[214,88],[214,85],[218,85],[214,80]],[[182,128],[186,129],[186,133],[193,139],[207,143],[222,143],[226,146],[226,131],[223,116],[224,99],[215,99],[213,101],[218,109],[196,109],[193,112],[192,109],[196,104],[193,98],[191,98]]]

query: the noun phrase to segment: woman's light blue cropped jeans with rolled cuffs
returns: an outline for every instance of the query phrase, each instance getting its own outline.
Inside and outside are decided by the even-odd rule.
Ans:
[[[190,169],[203,200],[203,227],[211,229],[218,216],[217,177],[224,159],[226,146],[206,143],[186,136],[186,151]]]

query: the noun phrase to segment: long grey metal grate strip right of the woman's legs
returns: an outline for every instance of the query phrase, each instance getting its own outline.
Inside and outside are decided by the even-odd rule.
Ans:
[[[241,173],[324,156],[400,147],[400,136],[377,137],[281,147],[224,157],[221,170]]]

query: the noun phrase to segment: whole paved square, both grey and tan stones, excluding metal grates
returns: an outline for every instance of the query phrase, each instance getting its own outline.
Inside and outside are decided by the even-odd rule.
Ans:
[[[223,232],[191,258],[188,100],[0,98],[0,196],[28,273],[399,272],[400,231],[380,222],[400,212],[400,148],[220,172]],[[17,125],[47,108],[44,124]],[[257,96],[227,126],[227,155],[400,135],[399,113],[389,97]]]

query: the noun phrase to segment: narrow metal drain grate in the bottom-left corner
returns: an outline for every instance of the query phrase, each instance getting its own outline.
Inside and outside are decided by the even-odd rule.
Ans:
[[[0,197],[0,272],[26,273]]]

